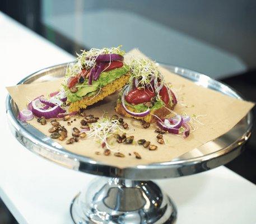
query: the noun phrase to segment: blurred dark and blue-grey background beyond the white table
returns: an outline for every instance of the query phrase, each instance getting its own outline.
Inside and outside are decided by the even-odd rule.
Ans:
[[[139,48],[256,101],[255,0],[2,0],[0,11],[73,55],[92,47]],[[253,132],[245,152],[227,167],[256,183],[255,164]],[[0,223],[17,223],[2,202]]]

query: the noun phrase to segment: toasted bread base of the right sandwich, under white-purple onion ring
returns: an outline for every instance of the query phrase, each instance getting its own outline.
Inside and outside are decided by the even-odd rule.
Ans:
[[[134,111],[133,108],[131,108],[131,106],[126,106],[126,107],[128,110],[136,112],[136,111]],[[174,106],[171,106],[168,104],[168,105],[166,105],[166,108],[173,110]],[[170,114],[170,111],[166,108],[162,107],[162,108],[159,108],[156,110],[151,110],[150,114],[148,114],[146,116],[138,117],[138,116],[132,116],[132,115],[129,115],[128,113],[126,113],[126,111],[123,108],[122,103],[120,101],[118,101],[117,106],[115,106],[115,111],[117,111],[117,113],[120,115],[127,116],[128,118],[135,118],[137,120],[144,120],[145,122],[148,122],[148,123],[154,123],[158,120],[156,116],[158,116],[159,118],[164,118],[167,114]],[[156,116],[154,116],[154,115],[156,115]]]

